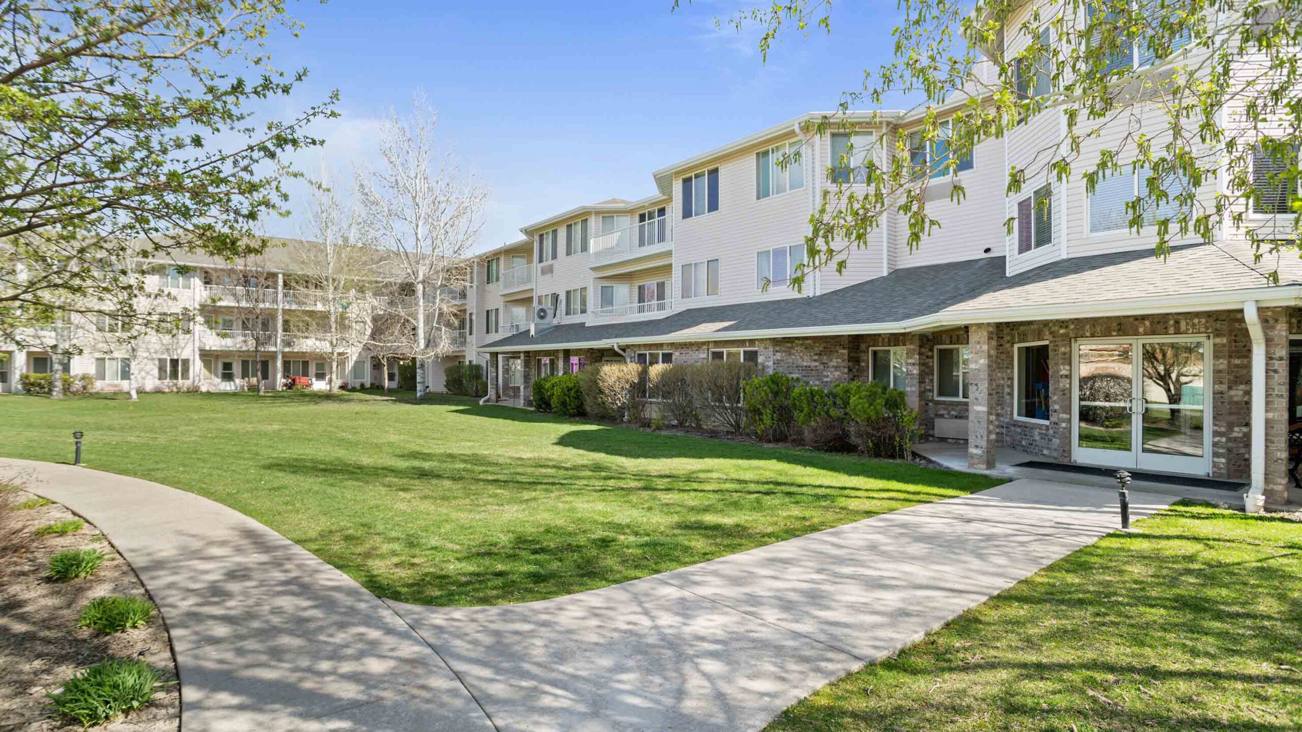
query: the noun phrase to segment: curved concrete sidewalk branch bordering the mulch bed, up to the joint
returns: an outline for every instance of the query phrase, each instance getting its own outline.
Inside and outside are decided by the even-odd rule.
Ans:
[[[0,458],[99,526],[158,603],[182,732],[492,732],[448,666],[383,602],[253,518],[87,468]]]

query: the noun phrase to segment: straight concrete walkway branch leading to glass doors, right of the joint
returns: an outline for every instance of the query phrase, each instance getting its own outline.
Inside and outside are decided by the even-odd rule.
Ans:
[[[1016,481],[564,598],[389,604],[503,732],[760,729],[1112,531],[1116,500]],[[1133,492],[1131,509],[1174,500]]]

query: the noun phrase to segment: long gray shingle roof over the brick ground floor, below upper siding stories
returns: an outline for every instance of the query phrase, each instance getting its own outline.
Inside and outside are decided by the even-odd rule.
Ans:
[[[585,326],[560,324],[536,336],[516,333],[487,344],[488,350],[535,350],[595,343],[724,340],[801,335],[797,330],[840,328],[853,332],[906,330],[958,320],[980,313],[1039,306],[1072,311],[1075,305],[1105,305],[1137,298],[1223,293],[1302,284],[1302,260],[1282,255],[1253,264],[1246,247],[1197,245],[1172,251],[1167,260],[1151,250],[1061,259],[1029,272],[1004,276],[1003,257],[894,270],[818,297],[690,307],[665,318]],[[1279,285],[1267,275],[1277,271]],[[1056,317],[1070,317],[1070,314]]]

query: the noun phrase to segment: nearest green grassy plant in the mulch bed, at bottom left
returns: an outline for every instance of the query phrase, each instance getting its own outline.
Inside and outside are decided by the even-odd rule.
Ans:
[[[118,658],[78,672],[48,697],[60,715],[94,727],[143,707],[164,685],[145,662]]]

